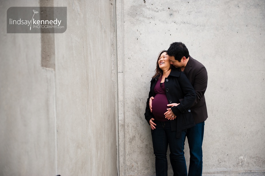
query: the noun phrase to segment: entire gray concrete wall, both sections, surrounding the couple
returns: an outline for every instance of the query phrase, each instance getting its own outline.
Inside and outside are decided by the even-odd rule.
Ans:
[[[264,175],[264,1],[13,0],[0,22],[41,5],[67,7],[66,32],[0,26],[0,175],[154,175],[144,109],[174,41],[208,71],[204,175]]]

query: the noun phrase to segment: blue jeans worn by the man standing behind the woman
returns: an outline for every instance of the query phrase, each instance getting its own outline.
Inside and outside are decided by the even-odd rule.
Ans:
[[[189,176],[201,176],[203,171],[203,133],[204,122],[187,129],[187,139],[190,148]]]

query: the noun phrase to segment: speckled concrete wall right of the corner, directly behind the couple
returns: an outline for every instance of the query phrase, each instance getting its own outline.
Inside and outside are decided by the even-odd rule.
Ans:
[[[261,0],[117,1],[120,175],[155,175],[144,109],[157,55],[175,41],[208,71],[204,175],[265,174],[264,15]]]

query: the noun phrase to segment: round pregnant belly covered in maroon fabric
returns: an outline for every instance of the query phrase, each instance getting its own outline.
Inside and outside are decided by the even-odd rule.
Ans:
[[[152,112],[155,116],[155,119],[158,121],[166,121],[164,113],[167,111],[168,99],[166,94],[156,94],[152,102]]]

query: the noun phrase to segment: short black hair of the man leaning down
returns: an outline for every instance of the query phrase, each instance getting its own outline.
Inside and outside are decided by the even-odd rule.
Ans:
[[[170,44],[170,47],[168,48],[167,54],[169,56],[174,56],[175,60],[181,61],[181,58],[185,56],[186,58],[189,57],[189,50],[184,45],[184,43],[181,42],[174,42]]]

